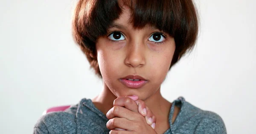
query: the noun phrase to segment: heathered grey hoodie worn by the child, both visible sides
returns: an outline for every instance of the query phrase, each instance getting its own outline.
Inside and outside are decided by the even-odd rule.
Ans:
[[[172,123],[174,106],[180,112]],[[51,112],[35,124],[33,134],[109,134],[108,118],[92,100],[82,99],[64,112]],[[169,113],[170,128],[164,134],[227,134],[223,120],[214,112],[198,109],[183,97],[174,100]]]

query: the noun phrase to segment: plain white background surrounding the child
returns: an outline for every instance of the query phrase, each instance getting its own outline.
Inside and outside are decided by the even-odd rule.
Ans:
[[[93,98],[102,81],[71,36],[73,0],[0,1],[0,133],[32,134],[51,106]],[[162,86],[218,113],[229,134],[256,131],[256,2],[196,0],[198,43]]]

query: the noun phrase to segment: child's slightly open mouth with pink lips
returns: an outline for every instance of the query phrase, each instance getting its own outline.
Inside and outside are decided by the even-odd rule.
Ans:
[[[128,75],[124,78],[120,78],[119,80],[126,87],[133,89],[141,88],[148,83],[148,81],[140,75]]]

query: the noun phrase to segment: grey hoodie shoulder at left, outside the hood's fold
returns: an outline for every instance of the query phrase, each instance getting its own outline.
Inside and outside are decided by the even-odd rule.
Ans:
[[[34,134],[76,133],[76,109],[71,106],[63,112],[50,112],[39,118],[34,127]]]

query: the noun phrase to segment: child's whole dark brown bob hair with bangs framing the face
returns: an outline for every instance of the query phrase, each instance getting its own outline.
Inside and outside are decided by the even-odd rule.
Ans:
[[[192,0],[121,0],[131,10],[131,24],[136,29],[152,25],[175,39],[171,67],[194,47],[198,36],[198,16]],[[99,77],[95,43],[107,34],[114,20],[122,14],[120,0],[79,0],[72,23],[75,42],[86,55]]]

